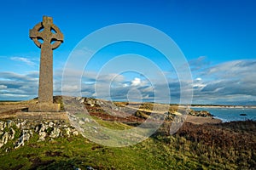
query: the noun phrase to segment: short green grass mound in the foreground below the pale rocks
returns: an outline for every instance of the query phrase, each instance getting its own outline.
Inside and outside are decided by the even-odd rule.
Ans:
[[[0,157],[3,169],[68,169],[87,166],[100,169],[180,169],[201,167],[187,156],[180,156],[172,147],[147,139],[141,144],[124,148],[104,147],[83,137],[30,142]],[[173,154],[175,153],[175,154]],[[186,165],[186,166],[185,166]]]

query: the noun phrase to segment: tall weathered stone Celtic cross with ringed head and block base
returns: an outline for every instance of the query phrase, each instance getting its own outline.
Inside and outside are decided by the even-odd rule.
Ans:
[[[29,111],[56,111],[57,106],[53,105],[53,50],[63,42],[63,34],[51,17],[44,16],[43,22],[29,31],[29,37],[41,48],[38,105]]]

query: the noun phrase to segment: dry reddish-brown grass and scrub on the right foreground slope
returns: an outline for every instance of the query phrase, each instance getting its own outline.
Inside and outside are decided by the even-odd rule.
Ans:
[[[184,155],[197,157],[206,164],[224,164],[226,169],[256,167],[256,122],[201,125],[184,122],[173,136],[168,133],[170,126],[166,122],[154,135]]]

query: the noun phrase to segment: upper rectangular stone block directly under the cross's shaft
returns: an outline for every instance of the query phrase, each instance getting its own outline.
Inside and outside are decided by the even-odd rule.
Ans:
[[[28,112],[59,112],[61,104],[38,103],[29,105]]]

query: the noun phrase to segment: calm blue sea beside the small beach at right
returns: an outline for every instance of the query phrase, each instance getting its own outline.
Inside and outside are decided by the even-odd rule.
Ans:
[[[231,121],[245,121],[247,119],[256,121],[256,109],[241,109],[241,108],[195,108],[191,107],[195,111],[209,111],[215,118],[222,120],[223,122]],[[247,116],[240,116],[240,114],[246,114]]]

